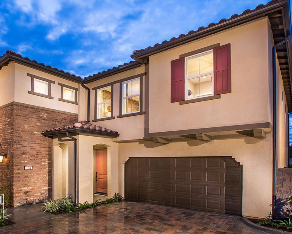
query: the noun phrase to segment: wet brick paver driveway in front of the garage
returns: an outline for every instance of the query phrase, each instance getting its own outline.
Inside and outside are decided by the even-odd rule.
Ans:
[[[234,220],[223,214],[121,202],[84,213],[7,226],[0,228],[0,233],[260,233]]]

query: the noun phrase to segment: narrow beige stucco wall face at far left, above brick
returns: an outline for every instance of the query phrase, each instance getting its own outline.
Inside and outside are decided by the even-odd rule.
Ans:
[[[11,103],[14,100],[15,63],[11,62],[0,70],[0,106]]]

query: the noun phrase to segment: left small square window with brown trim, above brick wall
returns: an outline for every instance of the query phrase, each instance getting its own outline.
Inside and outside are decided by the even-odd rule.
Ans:
[[[55,84],[55,81],[29,73],[27,75],[31,77],[31,90],[28,91],[29,94],[54,99],[51,96],[51,85]]]

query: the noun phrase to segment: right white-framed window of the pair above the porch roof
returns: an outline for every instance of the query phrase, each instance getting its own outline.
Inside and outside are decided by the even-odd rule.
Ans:
[[[140,111],[140,77],[123,82],[123,114]]]

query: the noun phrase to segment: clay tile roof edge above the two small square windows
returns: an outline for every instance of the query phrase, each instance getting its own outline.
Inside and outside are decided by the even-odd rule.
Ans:
[[[44,68],[49,69],[49,70],[51,70],[53,72],[61,73],[61,74],[65,75],[65,76],[67,76],[69,78],[74,79],[74,80],[79,80],[79,79],[80,79],[80,81],[82,80],[80,76],[76,76],[74,74],[70,74],[69,72],[64,72],[63,70],[59,70],[58,68],[52,68],[49,65],[46,66],[44,63],[38,63],[36,60],[30,60],[27,57],[22,57],[22,55],[17,54],[17,53],[15,53],[14,51],[12,51],[10,49],[6,50],[5,54],[3,54],[3,56],[0,57],[0,61],[1,61],[1,59],[4,59],[6,56],[14,57],[16,59],[21,59],[24,62],[35,63],[35,65],[44,67]],[[4,65],[2,65],[2,66],[4,66]],[[1,69],[2,66],[0,66],[0,69]]]

